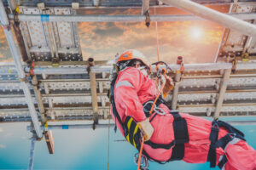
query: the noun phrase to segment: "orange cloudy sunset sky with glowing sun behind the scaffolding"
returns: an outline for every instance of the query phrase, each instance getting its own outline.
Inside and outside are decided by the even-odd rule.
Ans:
[[[227,12],[229,6],[211,6]],[[140,8],[79,9],[78,14],[140,14]],[[177,8],[150,8],[150,14],[188,14]],[[144,22],[79,23],[79,37],[84,59],[113,59],[126,49],[143,52],[151,62],[157,61],[156,24]],[[158,22],[160,60],[174,63],[182,55],[185,63],[213,62],[224,30],[211,21]],[[0,29],[0,61],[11,61],[3,29]]]

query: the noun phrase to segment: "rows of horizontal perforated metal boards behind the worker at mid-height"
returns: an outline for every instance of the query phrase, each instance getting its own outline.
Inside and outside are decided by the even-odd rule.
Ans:
[[[217,64],[218,65],[218,64]],[[240,71],[230,75],[220,116],[256,116],[256,72],[255,65],[250,63]],[[241,66],[241,65],[238,65]],[[62,69],[67,66],[60,65]],[[84,67],[84,65],[80,65]],[[96,102],[99,109],[99,118],[106,119],[109,114],[109,100],[107,97],[110,88],[109,71],[107,66],[96,66]],[[175,68],[175,66],[172,66]],[[189,65],[185,65],[189,68]],[[202,65],[194,65],[197,70],[185,70],[182,81],[179,82],[177,94],[177,109],[195,116],[212,116],[218,101],[219,91],[224,71],[217,66],[211,66],[208,71]],[[36,66],[41,71],[50,69],[50,66]],[[72,66],[69,65],[69,69]],[[79,69],[79,65],[73,66]],[[192,69],[192,68],[191,68]],[[102,70],[102,71],[100,71]],[[17,72],[13,65],[3,65],[0,68],[2,78],[0,82],[0,120],[4,122],[30,121],[25,96],[20,88]],[[171,77],[174,75],[171,73]],[[13,77],[9,79],[9,77]],[[90,77],[86,72],[79,74],[47,75],[37,73],[38,89],[49,120],[91,120],[93,117],[92,98],[90,94]],[[33,92],[32,86],[30,87]],[[38,108],[38,100],[32,93],[34,105]],[[172,104],[172,93],[166,98]],[[14,111],[15,108],[15,111]],[[39,112],[39,110],[38,110]],[[39,116],[40,118],[40,116]]]

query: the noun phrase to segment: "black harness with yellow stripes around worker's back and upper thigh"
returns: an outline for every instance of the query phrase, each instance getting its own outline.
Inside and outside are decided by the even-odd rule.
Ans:
[[[117,120],[119,122],[119,124],[121,125],[121,127],[124,130],[124,135],[125,135],[125,139],[132,144],[135,148],[137,148],[137,150],[140,150],[141,144],[140,141],[142,141],[142,137],[141,137],[141,131],[137,126],[137,123],[133,121],[133,119],[131,118],[131,116],[127,116],[125,118],[125,122],[123,123],[118,111],[116,110],[115,107],[115,103],[114,103],[114,97],[113,97],[113,88],[114,88],[114,84],[116,82],[117,76],[113,78],[113,81],[111,82],[111,88],[110,88],[110,95],[109,99],[110,99],[110,103],[112,105],[112,110],[113,110],[113,116],[115,118],[115,120]],[[165,101],[163,99],[158,99],[156,102],[156,106],[165,103]],[[146,116],[149,116],[149,111],[152,105],[144,105],[144,112]],[[161,164],[166,163],[168,161],[176,161],[176,160],[182,160],[183,156],[184,156],[184,144],[189,142],[189,133],[188,133],[188,127],[187,127],[187,122],[186,120],[179,115],[178,111],[170,111],[170,113],[172,114],[174,120],[173,120],[173,131],[174,131],[174,136],[175,136],[175,140],[173,140],[170,144],[155,144],[153,142],[151,142],[150,140],[146,141],[144,144],[148,144],[150,145],[152,148],[154,149],[166,149],[166,150],[170,150],[172,147],[172,156],[170,157],[169,160],[167,161],[158,161],[155,160],[154,158],[148,156],[148,153],[143,150],[143,155],[147,156],[148,159],[150,161],[157,161]],[[157,114],[154,113],[154,116],[156,116]],[[154,119],[154,116],[151,119],[151,122]],[[115,121],[116,122],[116,121]],[[115,126],[116,129],[116,126]]]

